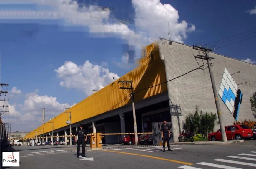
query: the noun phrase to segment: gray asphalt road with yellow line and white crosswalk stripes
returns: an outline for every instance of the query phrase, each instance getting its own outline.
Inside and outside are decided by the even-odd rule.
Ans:
[[[45,147],[45,148],[44,148]],[[20,151],[20,169],[27,168],[170,168],[170,169],[240,169],[256,168],[256,140],[229,145],[173,145],[162,147],[88,151],[87,158],[74,155],[74,146],[14,147]],[[39,149],[42,148],[42,149]],[[62,150],[62,151],[58,151]],[[54,152],[47,152],[54,151]],[[56,154],[44,154],[56,153]],[[9,167],[9,169],[15,169]]]

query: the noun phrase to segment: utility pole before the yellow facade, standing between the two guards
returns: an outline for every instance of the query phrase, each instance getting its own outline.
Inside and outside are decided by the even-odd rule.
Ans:
[[[132,81],[121,81],[119,80],[117,83],[122,83],[124,86],[124,83],[129,85],[129,87],[119,87],[120,89],[129,89],[131,90],[132,94],[132,112],[133,112],[133,124],[134,124],[134,133],[135,133],[135,145],[138,145],[138,134],[137,134],[137,122],[136,122],[136,114],[135,114],[135,105],[134,105],[134,91],[132,86]]]

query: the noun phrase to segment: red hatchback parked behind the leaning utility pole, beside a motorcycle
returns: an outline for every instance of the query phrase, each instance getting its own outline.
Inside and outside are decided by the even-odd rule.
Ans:
[[[232,128],[234,127],[234,130]],[[250,140],[253,137],[252,129],[246,125],[230,125],[225,126],[227,140]],[[217,141],[222,140],[220,129],[217,132],[212,132],[208,135],[208,140]]]

